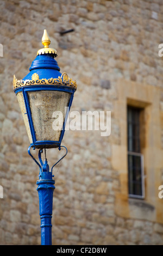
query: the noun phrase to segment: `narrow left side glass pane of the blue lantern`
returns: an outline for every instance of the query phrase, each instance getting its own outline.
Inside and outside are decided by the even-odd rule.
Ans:
[[[18,105],[20,106],[21,112],[22,112],[22,116],[23,116],[23,120],[24,120],[24,124],[26,126],[26,130],[27,130],[27,134],[29,137],[29,142],[32,143],[32,135],[30,133],[30,127],[29,127],[29,122],[28,122],[28,117],[27,117],[27,111],[26,111],[26,106],[24,103],[24,97],[23,97],[23,92],[19,92],[16,94],[17,96],[17,101],[18,101]]]

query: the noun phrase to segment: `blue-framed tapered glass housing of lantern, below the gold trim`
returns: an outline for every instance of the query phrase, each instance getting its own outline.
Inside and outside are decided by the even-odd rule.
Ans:
[[[74,89],[54,86],[32,86],[17,89],[30,145],[35,148],[59,147]]]

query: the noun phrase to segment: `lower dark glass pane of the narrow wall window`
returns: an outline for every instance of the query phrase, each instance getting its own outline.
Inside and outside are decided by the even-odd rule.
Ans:
[[[128,154],[129,194],[142,196],[141,156]]]

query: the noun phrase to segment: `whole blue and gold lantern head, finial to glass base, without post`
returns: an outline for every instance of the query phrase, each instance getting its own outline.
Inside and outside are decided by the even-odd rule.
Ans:
[[[76,81],[61,74],[57,51],[50,48],[46,29],[42,36],[44,48],[37,56],[23,80],[14,75],[13,86],[33,148],[60,147],[70,110]]]

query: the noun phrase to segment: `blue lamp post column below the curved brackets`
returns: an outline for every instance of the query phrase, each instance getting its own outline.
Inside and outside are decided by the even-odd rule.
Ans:
[[[52,245],[52,212],[55,181],[49,172],[47,161],[42,166],[40,180],[37,180],[41,218],[41,245]]]

